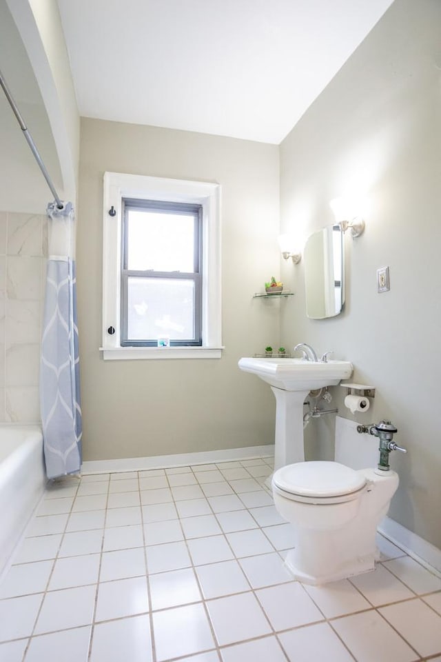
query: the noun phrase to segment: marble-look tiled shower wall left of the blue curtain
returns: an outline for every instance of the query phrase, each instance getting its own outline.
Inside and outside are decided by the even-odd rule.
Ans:
[[[0,212],[0,421],[38,423],[47,219]]]

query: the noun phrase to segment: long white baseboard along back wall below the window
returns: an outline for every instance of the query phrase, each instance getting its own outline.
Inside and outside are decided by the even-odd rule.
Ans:
[[[246,448],[227,448],[225,450],[206,450],[197,453],[177,455],[154,455],[152,457],[128,457],[116,460],[89,460],[83,462],[81,473],[103,474],[120,471],[142,471],[170,467],[186,467],[213,462],[248,460],[254,457],[274,457],[274,444],[247,446]]]

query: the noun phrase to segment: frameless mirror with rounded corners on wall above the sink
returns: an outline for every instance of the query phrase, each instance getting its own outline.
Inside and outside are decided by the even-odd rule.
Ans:
[[[304,251],[306,314],[311,319],[335,317],[345,303],[343,236],[329,225],[307,239]]]

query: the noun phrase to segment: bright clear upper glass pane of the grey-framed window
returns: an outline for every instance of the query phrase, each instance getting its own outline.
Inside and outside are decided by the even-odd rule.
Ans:
[[[194,214],[128,210],[127,268],[194,272]]]

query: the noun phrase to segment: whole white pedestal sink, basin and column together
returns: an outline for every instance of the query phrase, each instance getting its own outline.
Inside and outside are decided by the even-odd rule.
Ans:
[[[305,461],[303,446],[303,403],[311,390],[334,386],[352,374],[349,361],[305,361],[305,359],[239,360],[240,370],[252,372],[271,386],[276,397],[274,470]]]

